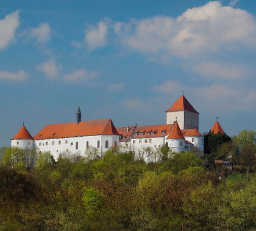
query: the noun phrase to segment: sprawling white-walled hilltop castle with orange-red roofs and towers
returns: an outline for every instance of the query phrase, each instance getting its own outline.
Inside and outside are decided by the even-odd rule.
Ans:
[[[178,153],[193,148],[204,151],[204,136],[198,131],[199,113],[183,94],[166,111],[166,124],[162,125],[136,124],[116,128],[111,119],[81,121],[81,118],[78,106],[75,122],[46,125],[34,137],[23,124],[12,138],[11,146],[49,151],[56,160],[64,151],[82,154],[94,147],[103,154],[117,145],[124,151],[141,154],[148,161],[148,150],[156,151],[165,145]],[[224,133],[221,125],[215,122],[210,133],[219,132]]]

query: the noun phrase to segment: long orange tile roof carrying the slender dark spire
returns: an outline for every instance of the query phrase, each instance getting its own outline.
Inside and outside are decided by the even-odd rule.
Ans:
[[[55,139],[77,136],[118,135],[111,119],[82,121],[73,123],[55,123],[46,125],[34,136],[34,140]]]

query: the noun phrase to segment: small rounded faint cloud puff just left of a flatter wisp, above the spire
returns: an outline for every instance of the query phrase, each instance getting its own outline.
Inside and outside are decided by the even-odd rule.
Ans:
[[[37,66],[39,71],[42,71],[46,78],[54,80],[59,75],[60,64],[56,64],[55,60],[48,60]]]

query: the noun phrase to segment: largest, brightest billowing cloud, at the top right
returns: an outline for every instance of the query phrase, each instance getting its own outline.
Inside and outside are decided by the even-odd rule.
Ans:
[[[121,43],[143,53],[190,58],[202,53],[256,47],[256,22],[250,13],[213,1],[186,10],[177,18],[118,22],[115,32]]]

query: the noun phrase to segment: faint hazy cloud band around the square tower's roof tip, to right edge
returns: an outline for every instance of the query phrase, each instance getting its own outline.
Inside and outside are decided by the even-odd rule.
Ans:
[[[172,91],[172,89],[176,89]],[[255,89],[243,86],[225,86],[213,83],[207,86],[192,87],[179,81],[168,80],[165,83],[155,85],[153,91],[164,95],[193,95],[195,105],[200,105],[205,111],[243,111],[256,109]],[[165,97],[166,98],[166,97]]]

